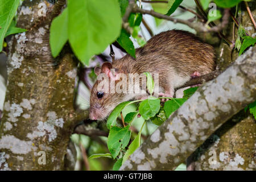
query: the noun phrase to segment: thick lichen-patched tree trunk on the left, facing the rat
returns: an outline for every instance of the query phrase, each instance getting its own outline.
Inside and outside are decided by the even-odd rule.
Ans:
[[[0,169],[60,170],[73,127],[87,113],[73,109],[77,62],[69,48],[53,59],[47,1],[24,1],[9,43],[8,83],[0,125]],[[44,14],[46,12],[46,14]],[[80,118],[81,117],[81,118]]]

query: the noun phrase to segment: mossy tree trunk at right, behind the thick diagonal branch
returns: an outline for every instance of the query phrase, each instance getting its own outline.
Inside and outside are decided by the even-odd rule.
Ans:
[[[247,34],[255,33],[244,3],[241,23]],[[256,14],[255,3],[249,3],[252,13]],[[236,27],[235,27],[236,28]],[[235,35],[237,35],[237,29]],[[225,32],[233,39],[233,21]],[[225,42],[219,49],[218,67],[224,70],[238,57]],[[197,148],[190,158],[190,168],[194,170],[255,170],[256,169],[256,123],[249,111],[241,111],[216,131],[205,143]]]

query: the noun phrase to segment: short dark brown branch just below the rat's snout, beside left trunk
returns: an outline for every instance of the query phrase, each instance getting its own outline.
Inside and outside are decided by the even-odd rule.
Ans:
[[[84,125],[77,126],[73,131],[73,133],[83,134],[89,137],[95,137],[95,136],[108,137],[109,135],[106,131],[102,131],[102,130],[97,130],[97,129],[86,130]]]

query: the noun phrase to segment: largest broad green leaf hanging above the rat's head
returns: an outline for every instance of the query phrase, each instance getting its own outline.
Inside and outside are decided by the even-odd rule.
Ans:
[[[114,42],[121,31],[118,0],[68,1],[68,38],[79,60],[89,59]]]

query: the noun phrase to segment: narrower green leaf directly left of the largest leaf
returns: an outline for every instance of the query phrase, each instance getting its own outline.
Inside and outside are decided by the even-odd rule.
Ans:
[[[68,9],[52,20],[50,28],[49,43],[52,56],[59,55],[61,49],[68,41]]]

